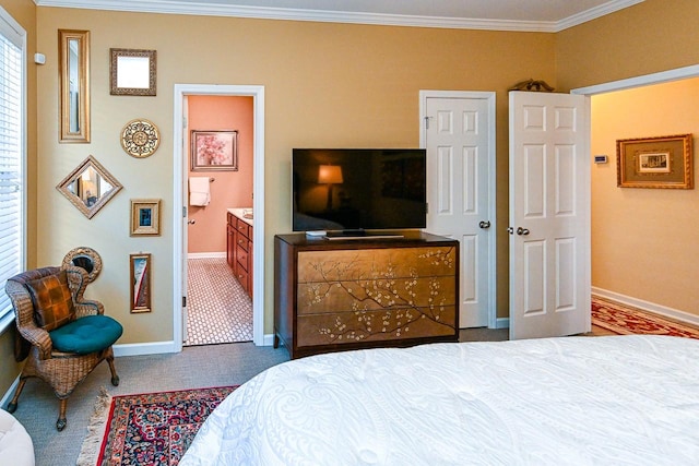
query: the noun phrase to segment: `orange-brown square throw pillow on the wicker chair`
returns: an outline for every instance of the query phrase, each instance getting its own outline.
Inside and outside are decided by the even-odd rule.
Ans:
[[[34,319],[42,328],[50,332],[74,320],[73,298],[68,287],[66,271],[27,282],[34,303]]]

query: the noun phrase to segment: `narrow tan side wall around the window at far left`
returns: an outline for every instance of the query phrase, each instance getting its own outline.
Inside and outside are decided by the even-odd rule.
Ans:
[[[32,0],[2,0],[0,5],[26,31],[27,46],[27,265],[36,264],[36,5]],[[14,325],[0,334],[0,396],[8,391],[20,373],[14,361]]]

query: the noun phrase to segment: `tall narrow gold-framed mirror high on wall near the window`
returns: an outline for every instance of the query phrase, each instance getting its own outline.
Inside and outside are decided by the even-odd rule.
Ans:
[[[58,29],[60,138],[90,142],[90,31]]]

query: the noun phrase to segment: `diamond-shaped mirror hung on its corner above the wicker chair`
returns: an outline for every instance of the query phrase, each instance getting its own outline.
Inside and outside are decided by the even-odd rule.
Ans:
[[[121,188],[92,155],[56,187],[87,218],[99,212]]]

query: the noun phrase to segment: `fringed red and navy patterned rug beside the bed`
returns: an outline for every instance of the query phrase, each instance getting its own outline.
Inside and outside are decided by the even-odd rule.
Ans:
[[[236,386],[109,396],[103,391],[78,466],[177,465]]]

